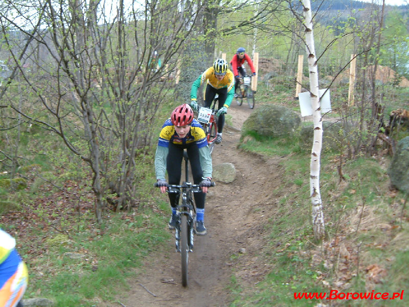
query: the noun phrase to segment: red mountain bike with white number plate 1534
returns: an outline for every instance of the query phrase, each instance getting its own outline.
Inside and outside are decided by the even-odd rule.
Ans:
[[[217,137],[217,109],[216,103],[218,103],[219,95],[216,94],[214,97],[210,108],[201,106],[198,111],[197,121],[202,125],[203,130],[205,130],[206,138],[208,140],[210,154],[212,154],[214,149],[214,141]]]

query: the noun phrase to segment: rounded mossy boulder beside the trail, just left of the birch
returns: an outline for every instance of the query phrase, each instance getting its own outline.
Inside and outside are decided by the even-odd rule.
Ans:
[[[292,109],[274,104],[264,104],[243,123],[243,131],[255,131],[266,137],[284,137],[294,133],[301,120]]]

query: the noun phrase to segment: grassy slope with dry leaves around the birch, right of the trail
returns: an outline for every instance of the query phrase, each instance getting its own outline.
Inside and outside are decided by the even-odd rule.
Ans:
[[[278,206],[265,226],[263,257],[269,270],[251,289],[232,278],[231,307],[315,306],[328,301],[296,300],[294,293],[394,292],[409,286],[407,213],[405,195],[391,192],[388,174],[376,157],[345,161],[338,174],[338,156],[321,156],[320,188],[327,237],[314,241],[309,202],[310,151],[300,150],[297,138],[268,139],[246,133],[240,147],[268,157],[285,157],[282,189],[275,191]],[[380,158],[380,157],[378,157]],[[383,157],[382,159],[389,159]],[[289,185],[297,189],[288,190]],[[280,196],[281,195],[281,196]],[[308,205],[307,205],[308,204]],[[359,264],[359,267],[357,266]],[[403,300],[336,300],[338,306],[406,306]]]

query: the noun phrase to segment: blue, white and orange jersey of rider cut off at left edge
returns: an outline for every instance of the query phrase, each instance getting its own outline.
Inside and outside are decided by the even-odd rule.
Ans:
[[[15,306],[26,291],[27,267],[15,250],[15,239],[0,229],[0,306]]]

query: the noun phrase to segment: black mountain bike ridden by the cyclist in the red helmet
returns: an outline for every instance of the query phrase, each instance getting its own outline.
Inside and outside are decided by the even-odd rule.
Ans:
[[[176,252],[181,258],[181,278],[182,286],[188,286],[188,260],[189,252],[193,252],[193,237],[196,226],[196,207],[193,202],[193,193],[201,192],[198,184],[189,182],[189,158],[187,151],[184,151],[186,181],[181,185],[167,185],[168,193],[178,193],[181,195],[182,203],[176,207],[176,229],[175,243]],[[157,187],[157,183],[155,183]],[[215,186],[212,182],[211,187]],[[179,197],[180,199],[180,197]]]

